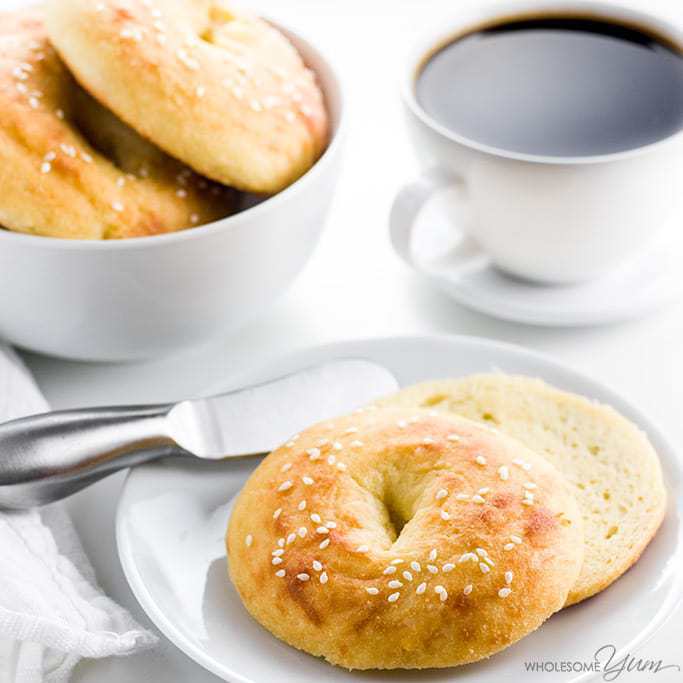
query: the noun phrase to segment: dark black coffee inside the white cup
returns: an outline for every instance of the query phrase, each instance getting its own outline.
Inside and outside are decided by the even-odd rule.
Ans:
[[[681,53],[600,19],[483,27],[432,54],[416,89],[423,109],[453,132],[528,154],[607,154],[683,128]]]

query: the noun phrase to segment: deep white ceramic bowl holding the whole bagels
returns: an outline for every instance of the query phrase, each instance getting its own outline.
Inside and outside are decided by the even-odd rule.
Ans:
[[[332,119],[315,166],[253,208],[168,235],[90,242],[0,230],[0,337],[65,358],[147,358],[238,328],[287,288],[322,232],[345,113],[329,61],[285,33],[316,72]]]

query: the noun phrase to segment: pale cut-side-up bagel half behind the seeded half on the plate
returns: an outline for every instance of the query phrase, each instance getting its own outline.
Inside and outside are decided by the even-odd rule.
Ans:
[[[488,424],[564,474],[583,514],[586,543],[569,605],[618,579],[664,519],[667,496],[657,454],[647,436],[609,406],[502,373],[418,384],[381,405],[435,409]]]

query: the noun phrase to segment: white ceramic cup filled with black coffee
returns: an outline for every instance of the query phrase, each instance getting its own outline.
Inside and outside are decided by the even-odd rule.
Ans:
[[[410,252],[417,215],[437,191],[455,187],[470,220],[458,227],[463,258],[479,253],[501,270],[547,283],[596,278],[635,257],[680,208],[683,134],[634,150],[584,157],[510,152],[459,135],[431,118],[415,94],[435,46],[497,18],[581,13],[647,26],[683,46],[683,33],[648,14],[599,2],[518,2],[460,11],[410,54],[402,83],[423,171],[400,190],[391,215],[394,247]],[[482,76],[485,78],[485,76]],[[501,113],[501,116],[504,113]]]

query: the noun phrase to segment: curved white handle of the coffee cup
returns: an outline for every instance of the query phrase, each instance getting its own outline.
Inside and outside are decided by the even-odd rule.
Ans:
[[[423,171],[416,180],[404,185],[394,199],[389,217],[391,243],[396,253],[411,268],[433,274],[439,271],[452,274],[462,269],[479,269],[489,262],[481,247],[466,233],[462,233],[460,240],[450,248],[445,258],[439,259],[438,264],[419,263],[415,259],[411,244],[417,218],[429,199],[449,187],[458,187],[464,194],[464,178],[454,171],[436,166]]]

